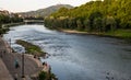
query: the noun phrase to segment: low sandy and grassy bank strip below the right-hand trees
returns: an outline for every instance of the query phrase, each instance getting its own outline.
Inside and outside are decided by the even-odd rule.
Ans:
[[[59,30],[60,32],[70,33],[70,34],[85,34],[85,35],[97,35],[97,36],[107,36],[126,39],[131,43],[131,30],[116,30],[114,32],[106,33],[96,33],[96,32],[80,32],[76,30]]]

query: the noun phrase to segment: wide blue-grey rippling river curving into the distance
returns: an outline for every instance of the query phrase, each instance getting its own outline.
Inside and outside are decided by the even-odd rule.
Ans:
[[[49,53],[41,61],[51,66],[59,80],[131,80],[131,45],[122,39],[61,33],[38,24],[11,27],[3,37],[11,38],[11,47],[19,53],[23,47],[16,39]]]

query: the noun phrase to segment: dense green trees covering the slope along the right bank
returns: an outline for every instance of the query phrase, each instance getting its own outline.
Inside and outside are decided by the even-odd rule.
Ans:
[[[61,8],[45,19],[45,25],[110,35],[116,32],[130,37],[130,4],[131,0],[96,0],[73,9]]]

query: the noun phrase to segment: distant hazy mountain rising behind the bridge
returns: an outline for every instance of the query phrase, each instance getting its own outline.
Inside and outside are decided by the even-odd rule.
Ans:
[[[51,13],[58,11],[60,8],[72,9],[73,7],[70,4],[57,4],[57,5],[51,5],[49,8],[39,9],[36,11],[22,12],[19,14],[21,14],[22,16],[48,16]]]

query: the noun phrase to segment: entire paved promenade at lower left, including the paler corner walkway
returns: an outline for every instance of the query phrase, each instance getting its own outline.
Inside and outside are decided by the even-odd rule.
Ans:
[[[8,43],[3,42],[0,37],[0,80],[12,80],[15,76],[17,80],[22,79],[22,54],[11,53],[11,48]],[[14,64],[17,60],[20,67],[15,68]],[[24,56],[24,80],[32,80],[31,77],[40,70],[43,66],[39,66],[40,61],[33,59],[33,57]],[[8,71],[9,70],[9,71]],[[3,75],[2,75],[3,72]],[[2,79],[7,78],[7,79]]]

